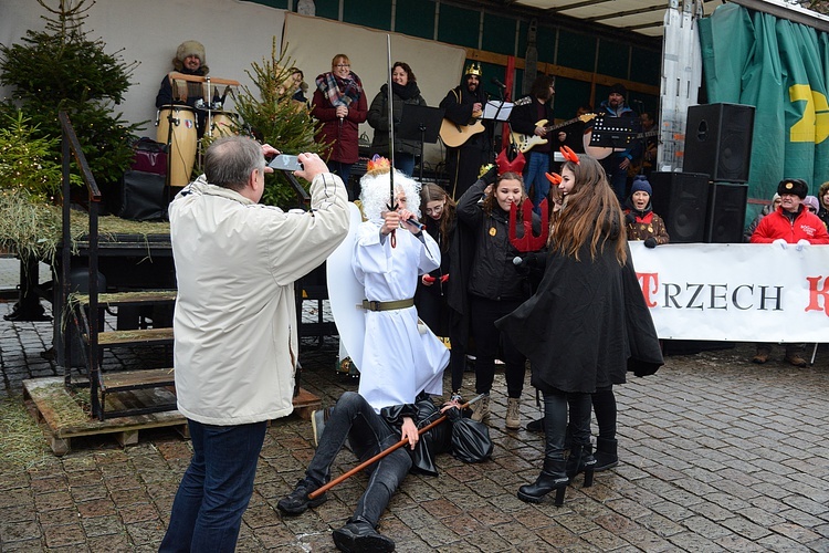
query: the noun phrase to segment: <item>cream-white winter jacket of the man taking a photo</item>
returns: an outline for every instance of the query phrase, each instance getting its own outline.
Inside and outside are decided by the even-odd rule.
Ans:
[[[178,409],[187,418],[230,426],[293,410],[294,281],[348,233],[339,177],[317,176],[311,197],[313,212],[286,213],[201,176],[170,204],[174,366]]]

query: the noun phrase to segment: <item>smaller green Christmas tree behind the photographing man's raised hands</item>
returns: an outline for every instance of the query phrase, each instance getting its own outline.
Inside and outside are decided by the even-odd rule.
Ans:
[[[262,59],[262,64],[254,62],[251,67],[252,71],[245,70],[245,73],[256,93],[241,86],[234,96],[237,112],[243,121],[241,127],[283,154],[319,153],[325,145],[314,142],[317,123],[305,104],[291,98],[294,92],[292,61],[284,49],[279,52],[275,36],[271,59]],[[276,171],[267,177],[265,185],[263,204],[280,207],[296,204],[296,192],[285,175]]]

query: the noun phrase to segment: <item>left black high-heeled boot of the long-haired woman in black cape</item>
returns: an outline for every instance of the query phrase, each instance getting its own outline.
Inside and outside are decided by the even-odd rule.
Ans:
[[[566,461],[564,459],[564,436],[567,429],[567,400],[564,394],[544,395],[544,469],[532,484],[518,489],[518,499],[538,503],[544,495],[556,490],[555,504],[564,503],[567,489]]]

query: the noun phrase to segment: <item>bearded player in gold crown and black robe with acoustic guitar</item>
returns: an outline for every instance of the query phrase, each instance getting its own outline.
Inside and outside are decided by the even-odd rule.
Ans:
[[[461,84],[447,94],[440,103],[444,118],[457,127],[479,124],[486,105],[486,93],[481,83],[481,64],[470,63],[463,73]],[[483,128],[481,131],[484,131]],[[491,160],[489,132],[474,132],[464,135],[465,142],[457,147],[447,145],[447,191],[459,199],[476,180],[482,165]],[[445,143],[445,139],[444,139]]]

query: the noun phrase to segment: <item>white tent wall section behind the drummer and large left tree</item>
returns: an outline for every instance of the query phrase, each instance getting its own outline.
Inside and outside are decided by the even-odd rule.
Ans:
[[[55,2],[52,2],[55,3]],[[34,0],[0,2],[0,43],[19,42],[30,29],[42,30],[46,11]],[[130,123],[148,122],[140,134],[155,138],[156,94],[165,74],[172,71],[176,49],[186,40],[204,44],[210,76],[251,85],[244,70],[271,58],[273,36],[281,45],[284,10],[238,0],[127,0],[98,1],[87,12],[84,30],[101,39],[107,53],[120,49],[126,62],[140,61],[124,103],[115,106]],[[9,96],[0,87],[0,96]]]

